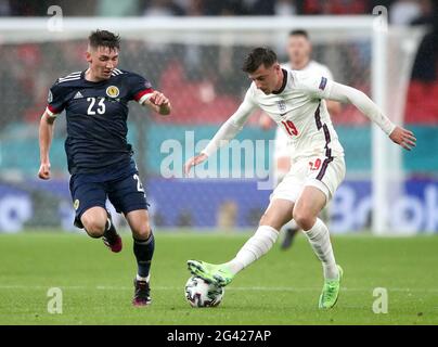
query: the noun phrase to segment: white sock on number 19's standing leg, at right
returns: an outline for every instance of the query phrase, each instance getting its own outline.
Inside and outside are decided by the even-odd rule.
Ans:
[[[335,261],[335,256],[332,249],[332,242],[330,241],[330,233],[324,222],[317,218],[317,222],[312,229],[305,232],[309,239],[310,245],[314,254],[322,261],[322,269],[324,271],[325,280],[336,280],[339,275]]]

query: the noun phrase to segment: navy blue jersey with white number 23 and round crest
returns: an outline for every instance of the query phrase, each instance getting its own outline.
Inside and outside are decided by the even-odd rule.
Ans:
[[[50,88],[47,112],[67,117],[68,171],[99,174],[128,164],[132,146],[127,142],[128,102],[143,103],[153,92],[140,75],[114,69],[107,80],[85,79],[85,70],[59,78]]]

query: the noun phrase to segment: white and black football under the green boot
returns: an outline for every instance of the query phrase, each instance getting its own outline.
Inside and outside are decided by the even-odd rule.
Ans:
[[[185,298],[192,307],[216,307],[223,299],[223,287],[191,277],[185,283]]]

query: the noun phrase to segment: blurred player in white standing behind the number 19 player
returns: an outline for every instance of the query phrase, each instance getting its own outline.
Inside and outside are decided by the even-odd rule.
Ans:
[[[287,56],[288,62],[282,64],[282,67],[286,69],[296,69],[306,73],[319,74],[326,77],[330,80],[334,80],[332,72],[327,66],[320,64],[311,59],[312,44],[309,38],[309,34],[306,30],[297,29],[289,33],[287,40]],[[333,100],[326,100],[326,105],[331,116],[336,116],[340,113],[340,104]],[[271,118],[267,114],[262,114],[260,117],[260,126],[263,129],[269,129],[272,125]],[[292,142],[287,134],[280,128],[275,131],[275,146],[273,152],[273,180],[274,187],[283,180],[286,174],[291,169],[291,150]],[[326,209],[324,210],[326,216]],[[323,218],[324,221],[327,218]],[[298,224],[295,220],[291,220],[284,226],[284,239],[282,242],[282,249],[291,247],[293,240],[299,231]]]

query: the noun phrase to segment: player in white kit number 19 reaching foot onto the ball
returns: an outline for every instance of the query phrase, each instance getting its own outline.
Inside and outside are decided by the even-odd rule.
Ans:
[[[243,70],[253,80],[243,103],[205,150],[185,163],[185,174],[233,139],[256,107],[265,111],[291,138],[291,171],[273,191],[256,233],[232,260],[220,265],[189,260],[189,270],[207,282],[224,286],[268,253],[279,230],[293,218],[322,262],[324,285],[319,307],[332,308],[337,303],[343,270],[335,261],[328,230],[318,215],[343,181],[345,162],[325,99],[356,105],[405,150],[411,150],[416,139],[411,131],[394,125],[363,92],[325,76],[284,69],[270,49],[254,49]]]

